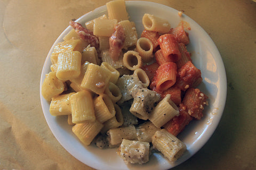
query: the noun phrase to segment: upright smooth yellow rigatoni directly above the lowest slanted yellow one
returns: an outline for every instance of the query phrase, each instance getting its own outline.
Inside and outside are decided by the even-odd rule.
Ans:
[[[95,121],[93,99],[90,91],[78,91],[70,96],[73,123]]]

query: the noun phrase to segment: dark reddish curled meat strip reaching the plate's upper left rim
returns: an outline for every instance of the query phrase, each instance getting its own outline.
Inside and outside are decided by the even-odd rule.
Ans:
[[[69,25],[76,30],[76,33],[84,40],[86,40],[92,47],[99,47],[99,40],[93,35],[93,32],[84,28],[81,24],[70,21]]]

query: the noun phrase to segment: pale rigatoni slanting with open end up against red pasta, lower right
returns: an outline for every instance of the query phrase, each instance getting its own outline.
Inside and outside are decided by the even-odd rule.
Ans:
[[[167,94],[153,109],[149,120],[157,127],[162,127],[174,116],[179,115],[179,108],[170,99],[171,95]]]

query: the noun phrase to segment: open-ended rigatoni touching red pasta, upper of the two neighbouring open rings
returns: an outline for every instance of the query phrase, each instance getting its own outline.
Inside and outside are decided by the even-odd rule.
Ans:
[[[148,38],[139,38],[136,43],[136,50],[140,54],[143,62],[150,62],[153,60],[153,44]]]

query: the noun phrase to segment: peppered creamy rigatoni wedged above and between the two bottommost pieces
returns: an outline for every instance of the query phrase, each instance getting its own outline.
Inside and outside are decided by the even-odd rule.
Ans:
[[[137,139],[141,142],[152,142],[152,137],[156,131],[161,130],[160,128],[156,128],[156,126],[148,121],[140,124],[137,128]]]

